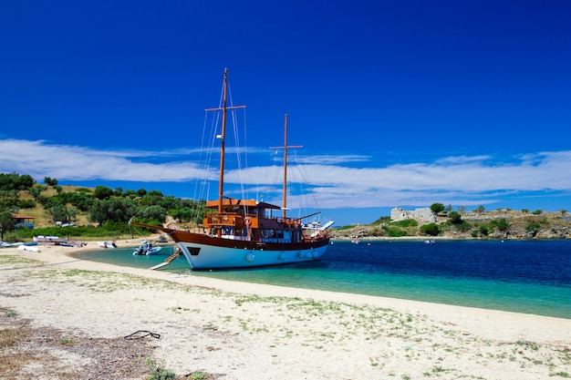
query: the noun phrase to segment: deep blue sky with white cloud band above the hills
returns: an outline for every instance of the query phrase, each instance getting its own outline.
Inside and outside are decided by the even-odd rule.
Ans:
[[[8,2],[0,171],[193,198],[228,67],[252,198],[280,201],[287,113],[288,206],[337,225],[434,202],[569,211],[569,20],[569,0]]]

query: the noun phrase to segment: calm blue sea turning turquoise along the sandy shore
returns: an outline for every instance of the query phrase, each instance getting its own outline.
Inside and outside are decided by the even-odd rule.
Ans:
[[[80,258],[149,268],[172,248],[150,257],[132,252],[101,249]],[[179,258],[161,271],[188,268]],[[335,242],[317,262],[192,275],[571,319],[571,241]]]

